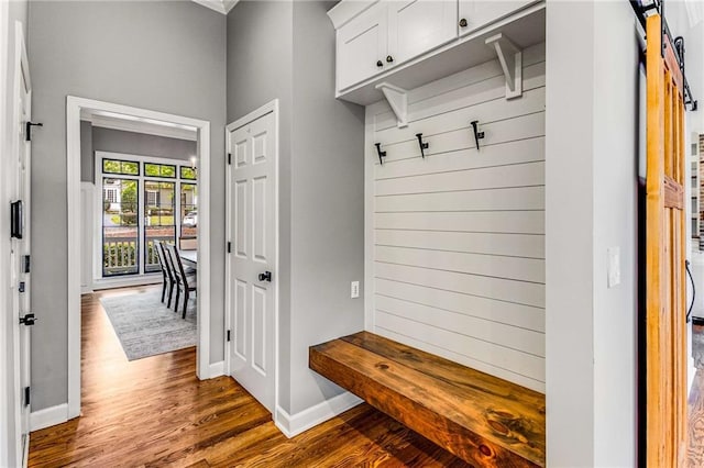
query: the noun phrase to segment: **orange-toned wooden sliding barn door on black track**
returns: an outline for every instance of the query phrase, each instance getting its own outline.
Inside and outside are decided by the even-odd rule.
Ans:
[[[647,20],[647,466],[684,466],[686,450],[684,103],[661,18]],[[666,42],[664,57],[661,47]]]

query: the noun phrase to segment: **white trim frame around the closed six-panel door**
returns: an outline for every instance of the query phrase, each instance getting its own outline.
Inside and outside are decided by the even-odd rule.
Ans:
[[[232,239],[232,230],[231,230],[231,210],[232,210],[232,203],[231,203],[231,196],[232,196],[232,191],[231,191],[231,183],[232,183],[232,164],[231,164],[231,158],[232,158],[232,147],[230,144],[230,134],[232,132],[234,132],[235,130],[251,123],[254,122],[257,119],[263,118],[264,115],[268,114],[268,113],[273,113],[274,114],[274,151],[273,153],[273,157],[274,157],[274,176],[276,177],[276,183],[274,185],[274,256],[275,256],[275,261],[274,261],[274,272],[275,275],[278,275],[279,271],[279,210],[278,210],[278,188],[279,188],[279,166],[278,166],[278,159],[279,159],[279,113],[278,113],[278,99],[274,99],[270,102],[267,102],[266,104],[262,105],[261,108],[250,112],[249,114],[235,120],[234,122],[228,124],[226,126],[226,132],[224,132],[224,137],[226,137],[226,152],[228,153],[228,158],[229,158],[229,163],[228,164],[228,169],[227,169],[227,178],[226,178],[226,241],[230,241]],[[231,308],[231,301],[230,299],[232,298],[232,271],[231,271],[231,267],[230,267],[230,254],[228,254],[227,256],[227,260],[226,260],[226,282],[224,282],[224,328],[226,328],[226,333],[231,328],[231,315],[232,315],[232,308]],[[278,317],[278,311],[279,311],[279,307],[278,307],[278,293],[279,293],[279,288],[278,288],[279,282],[278,281],[273,281],[272,282],[272,288],[274,289],[273,293],[274,293],[274,421],[278,421],[278,344],[279,344],[279,335],[278,335],[278,323],[279,323],[279,317]],[[227,341],[224,342],[224,369],[226,369],[226,374],[228,376],[232,376],[232,369],[231,369],[231,363],[230,363],[230,347],[232,346],[232,342],[231,341]]]

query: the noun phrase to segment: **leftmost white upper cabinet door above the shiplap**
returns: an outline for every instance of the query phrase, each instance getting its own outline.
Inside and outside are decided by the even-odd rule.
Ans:
[[[338,91],[356,85],[386,65],[386,5],[376,3],[338,31]]]

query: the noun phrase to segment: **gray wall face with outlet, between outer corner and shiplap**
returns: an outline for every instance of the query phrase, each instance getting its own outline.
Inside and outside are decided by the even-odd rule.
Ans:
[[[341,392],[308,346],[364,330],[364,108],[334,99],[334,3],[294,2],[290,414]]]

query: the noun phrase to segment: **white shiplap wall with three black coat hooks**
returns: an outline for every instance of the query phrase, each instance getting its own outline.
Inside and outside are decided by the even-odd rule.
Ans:
[[[365,153],[366,328],[541,392],[544,70],[538,44],[519,99],[497,60],[415,89],[406,129],[371,104]]]

